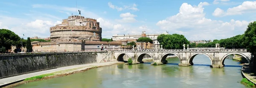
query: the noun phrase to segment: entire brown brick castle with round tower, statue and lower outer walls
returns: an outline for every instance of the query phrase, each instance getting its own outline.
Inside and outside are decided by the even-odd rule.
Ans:
[[[33,52],[72,52],[118,49],[122,42],[101,41],[102,28],[96,19],[69,16],[61,24],[50,27],[50,42],[32,42]]]

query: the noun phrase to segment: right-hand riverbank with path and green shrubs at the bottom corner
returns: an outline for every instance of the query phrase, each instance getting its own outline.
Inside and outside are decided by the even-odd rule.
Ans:
[[[243,67],[242,67],[242,69],[241,69],[241,73],[242,73],[242,76],[244,77],[244,78],[246,78],[248,81],[250,81],[250,82],[252,82],[254,85],[251,85],[251,83],[250,82],[247,82],[247,83],[245,83],[243,80],[243,82],[245,83],[243,83],[244,85],[247,85],[247,86],[250,86],[250,87],[255,87],[255,84],[256,84],[256,74],[254,74],[253,73],[253,71],[251,70],[251,68],[250,68],[250,66],[248,66],[248,65],[244,65]],[[241,81],[241,82],[242,82]]]

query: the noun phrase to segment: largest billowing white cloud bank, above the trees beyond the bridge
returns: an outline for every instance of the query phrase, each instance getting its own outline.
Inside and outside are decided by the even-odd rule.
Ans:
[[[215,15],[220,13],[221,10],[216,10]],[[235,21],[234,19],[230,22],[207,19],[201,3],[198,6],[183,3],[178,14],[161,20],[156,25],[161,30],[169,31],[170,34],[183,34],[189,40],[208,40],[243,34],[248,23],[247,21]]]

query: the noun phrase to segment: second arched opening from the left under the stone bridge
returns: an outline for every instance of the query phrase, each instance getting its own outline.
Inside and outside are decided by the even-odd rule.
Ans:
[[[145,63],[152,63],[152,62],[154,62],[152,56],[148,53],[142,53],[142,54],[138,55],[137,61],[138,61],[138,63],[144,63],[144,62]]]

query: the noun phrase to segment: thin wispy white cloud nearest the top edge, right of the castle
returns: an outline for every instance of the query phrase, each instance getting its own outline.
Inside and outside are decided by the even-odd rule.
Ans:
[[[124,5],[122,7],[113,5],[111,2],[108,2],[108,6],[112,9],[116,9],[117,11],[122,11],[125,9],[133,10],[133,11],[140,11],[135,3],[133,5]]]

